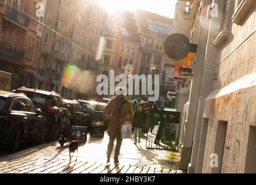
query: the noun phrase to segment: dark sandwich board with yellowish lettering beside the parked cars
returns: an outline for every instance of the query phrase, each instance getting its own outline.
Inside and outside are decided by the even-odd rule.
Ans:
[[[105,133],[105,115],[104,112],[93,111],[91,123],[91,136],[103,137]]]

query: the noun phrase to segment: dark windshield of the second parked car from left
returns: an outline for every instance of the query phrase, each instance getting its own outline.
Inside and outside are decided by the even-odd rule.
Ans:
[[[47,106],[49,97],[44,94],[38,94],[33,92],[23,92],[34,103],[36,108],[45,108]]]

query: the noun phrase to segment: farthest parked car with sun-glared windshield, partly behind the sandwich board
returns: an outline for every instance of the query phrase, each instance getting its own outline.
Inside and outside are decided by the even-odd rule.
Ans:
[[[82,99],[78,99],[78,102],[81,105],[82,110],[84,110],[87,116],[87,122],[86,125],[88,127],[88,130],[91,131],[92,127],[92,122],[95,121],[93,120],[94,117],[96,117],[96,114],[102,114],[104,106],[107,105],[107,103],[102,103],[102,102],[95,102],[95,101],[86,101]],[[102,117],[102,116],[101,116]],[[104,118],[99,121],[104,121]]]

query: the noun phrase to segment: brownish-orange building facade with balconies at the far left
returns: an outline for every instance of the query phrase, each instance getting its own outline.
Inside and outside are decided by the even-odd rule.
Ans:
[[[11,89],[38,83],[41,27],[37,20],[41,17],[37,17],[37,3],[42,1],[0,1],[0,67],[13,74]]]

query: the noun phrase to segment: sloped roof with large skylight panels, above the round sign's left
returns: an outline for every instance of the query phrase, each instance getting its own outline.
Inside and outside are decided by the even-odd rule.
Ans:
[[[142,32],[153,32],[154,34],[163,36],[172,34],[172,24],[174,21],[172,18],[139,9],[137,9],[135,13]]]

